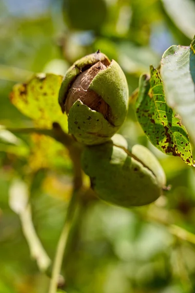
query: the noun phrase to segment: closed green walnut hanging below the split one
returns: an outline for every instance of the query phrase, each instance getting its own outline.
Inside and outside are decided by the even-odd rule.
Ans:
[[[165,187],[165,173],[156,157],[144,146],[127,151],[119,134],[100,146],[86,146],[82,168],[102,200],[121,207],[154,202]]]

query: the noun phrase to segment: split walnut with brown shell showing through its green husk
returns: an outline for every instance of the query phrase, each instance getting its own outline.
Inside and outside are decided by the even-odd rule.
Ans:
[[[114,60],[99,51],[76,61],[59,90],[59,105],[68,114],[69,133],[86,145],[102,144],[123,124],[128,85]]]

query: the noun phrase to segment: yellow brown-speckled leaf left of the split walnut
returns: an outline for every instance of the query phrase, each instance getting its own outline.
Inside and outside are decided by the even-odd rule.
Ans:
[[[33,119],[36,126],[52,128],[52,123],[58,122],[67,130],[67,117],[62,114],[58,104],[61,82],[60,75],[35,75],[26,84],[16,84],[10,100],[20,112]]]

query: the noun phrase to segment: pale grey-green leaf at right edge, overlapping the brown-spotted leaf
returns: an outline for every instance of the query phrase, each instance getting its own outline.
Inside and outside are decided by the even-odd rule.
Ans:
[[[171,46],[162,56],[167,104],[175,108],[195,143],[195,39],[191,47]]]

